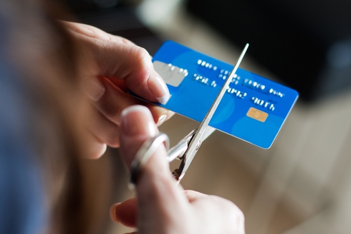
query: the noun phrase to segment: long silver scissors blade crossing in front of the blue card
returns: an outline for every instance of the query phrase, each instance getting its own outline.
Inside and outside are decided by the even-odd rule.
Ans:
[[[209,126],[211,118],[212,118],[213,114],[215,114],[215,110],[217,109],[218,105],[220,104],[220,101],[222,100],[224,93],[226,92],[226,89],[229,86],[229,83],[231,83],[231,80],[233,79],[235,72],[237,72],[237,68],[239,67],[240,63],[242,62],[242,58],[244,58],[244,55],[245,55],[247,49],[248,49],[248,43],[245,45],[244,50],[242,50],[242,54],[240,54],[240,57],[237,60],[237,63],[233,67],[233,70],[231,70],[231,74],[226,79],[226,82],[222,86],[220,93],[215,98],[213,104],[211,105],[211,108],[209,109],[206,116],[204,117],[204,120],[202,120],[200,127],[198,128],[195,135],[191,139],[191,142],[189,143],[189,147],[188,147],[187,151],[184,153],[184,158],[182,160],[182,163],[180,164],[180,167],[177,170],[177,175],[175,175],[175,177],[178,180],[182,179],[182,177],[184,176],[184,173],[189,168],[189,165],[191,164],[191,161],[193,160],[195,153],[200,148],[202,136],[204,135],[204,132],[206,131],[206,127]]]

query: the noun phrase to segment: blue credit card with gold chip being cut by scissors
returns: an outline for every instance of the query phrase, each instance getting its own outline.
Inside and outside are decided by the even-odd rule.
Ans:
[[[171,98],[161,107],[202,122],[233,65],[166,41],[153,56]],[[299,94],[257,74],[238,69],[209,125],[268,149]]]

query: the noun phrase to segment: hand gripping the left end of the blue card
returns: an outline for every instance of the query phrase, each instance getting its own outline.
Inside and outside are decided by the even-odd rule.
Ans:
[[[135,94],[151,102],[165,103],[169,90],[153,70],[148,52],[120,36],[80,23],[62,22],[76,43],[79,73],[93,106],[87,116],[89,158],[98,158],[106,145],[119,146],[120,113],[130,105],[146,105],[155,123],[160,125],[173,112],[143,103],[127,94]],[[97,110],[97,111],[96,111]]]

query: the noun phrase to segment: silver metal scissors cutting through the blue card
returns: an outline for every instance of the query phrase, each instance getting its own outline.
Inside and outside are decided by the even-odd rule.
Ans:
[[[229,86],[229,83],[231,83],[231,80],[235,72],[237,72],[237,68],[242,62],[242,58],[244,58],[244,55],[247,49],[248,49],[248,44],[246,44],[244,47],[244,50],[242,50],[242,53],[240,54],[240,57],[237,60],[237,63],[233,67],[233,70],[231,70],[231,73],[229,74],[228,78],[226,79],[226,82],[224,83],[224,85],[220,90],[220,93],[217,95],[209,111],[204,117],[204,120],[202,120],[200,127],[198,127],[198,129],[193,129],[193,131],[191,131],[187,136],[185,136],[182,140],[180,140],[180,142],[178,142],[177,145],[167,150],[168,162],[172,162],[176,158],[181,160],[180,166],[178,167],[178,169],[175,169],[172,173],[173,177],[175,178],[175,180],[178,180],[178,182],[180,182],[180,180],[182,180],[182,178],[184,177],[185,172],[188,170],[191,164],[191,161],[195,157],[195,154],[198,152],[198,149],[200,148],[201,142],[207,136],[211,135],[211,133],[215,130],[213,129],[213,127],[209,126],[209,123],[211,121],[213,114],[215,114],[215,110],[220,104],[220,101],[222,100],[224,93],[226,92],[226,89]],[[142,147],[140,147],[140,149],[136,153],[136,157],[134,161],[131,163],[131,183],[132,184],[136,184],[138,172],[140,171],[142,165],[145,164],[145,162],[147,162],[147,160],[152,156],[153,152],[157,149],[157,147],[162,142],[165,142],[166,148],[168,149],[169,138],[167,134],[160,133],[158,134],[158,136],[147,140],[142,145]]]

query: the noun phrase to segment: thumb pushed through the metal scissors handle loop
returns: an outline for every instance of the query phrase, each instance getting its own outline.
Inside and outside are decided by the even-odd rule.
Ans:
[[[128,167],[142,143],[156,134],[158,129],[147,107],[132,106],[123,111],[120,150]],[[184,218],[178,211],[189,209],[186,196],[169,171],[166,156],[167,151],[160,145],[138,175],[136,195],[140,231],[177,230]]]

